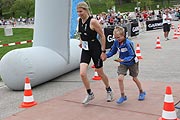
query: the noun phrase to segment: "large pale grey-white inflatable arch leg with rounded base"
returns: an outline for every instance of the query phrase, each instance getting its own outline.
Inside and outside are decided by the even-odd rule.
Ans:
[[[8,52],[0,61],[0,75],[12,90],[42,84],[79,68],[79,41],[69,39],[71,0],[36,0],[33,46]]]

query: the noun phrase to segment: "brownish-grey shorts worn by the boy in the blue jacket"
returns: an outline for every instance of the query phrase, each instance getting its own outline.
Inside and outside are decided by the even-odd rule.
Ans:
[[[118,75],[127,75],[128,70],[129,70],[130,76],[137,77],[138,73],[139,73],[139,62],[137,62],[131,66],[126,66],[126,65],[120,64],[120,66],[118,66],[117,73],[118,73]]]

